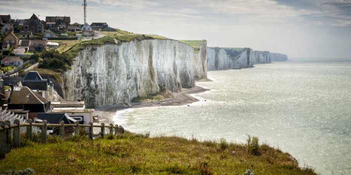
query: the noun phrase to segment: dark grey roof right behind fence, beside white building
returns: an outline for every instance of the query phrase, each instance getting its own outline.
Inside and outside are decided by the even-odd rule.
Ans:
[[[75,119],[70,117],[67,113],[38,113],[38,119],[47,120],[48,123],[58,124],[63,120],[66,124],[73,124]]]

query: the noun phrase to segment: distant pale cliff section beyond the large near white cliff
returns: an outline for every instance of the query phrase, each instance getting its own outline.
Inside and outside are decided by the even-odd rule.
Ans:
[[[254,64],[270,62],[269,51],[254,51],[251,48],[207,47],[207,67],[209,71],[253,67]]]

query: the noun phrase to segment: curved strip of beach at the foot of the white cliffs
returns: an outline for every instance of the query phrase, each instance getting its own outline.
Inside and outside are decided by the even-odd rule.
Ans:
[[[109,105],[101,106],[95,108],[93,115],[99,115],[103,120],[108,120],[109,123],[113,123],[113,117],[115,116],[118,110],[123,109],[132,109],[132,108],[141,108],[141,107],[155,107],[155,106],[177,106],[177,105],[186,105],[196,101],[199,101],[198,98],[192,96],[191,94],[197,94],[201,92],[208,91],[210,89],[196,85],[192,88],[182,88],[180,92],[175,92],[175,97],[159,100],[159,101],[146,101],[146,102],[132,102],[131,106],[123,105]],[[118,124],[118,123],[113,123]]]

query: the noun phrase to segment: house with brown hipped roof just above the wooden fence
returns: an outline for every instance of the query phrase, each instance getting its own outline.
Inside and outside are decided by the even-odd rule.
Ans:
[[[27,86],[12,86],[8,109],[29,110],[28,118],[35,120],[38,112],[50,109],[50,102]]]

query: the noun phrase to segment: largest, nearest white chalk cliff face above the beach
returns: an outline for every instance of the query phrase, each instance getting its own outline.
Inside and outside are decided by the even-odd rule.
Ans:
[[[193,47],[176,40],[89,45],[64,74],[64,96],[89,106],[130,103],[159,92],[159,86],[171,91],[193,87],[195,76],[207,76],[206,49],[195,56]]]

